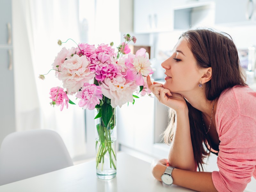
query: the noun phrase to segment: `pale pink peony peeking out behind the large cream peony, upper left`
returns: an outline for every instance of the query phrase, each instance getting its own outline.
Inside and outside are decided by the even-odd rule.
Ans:
[[[65,59],[67,57],[70,57],[72,54],[76,53],[76,48],[75,47],[71,47],[71,49],[66,49],[65,47],[63,47],[60,52],[57,54],[57,56],[55,57],[54,62],[52,63],[52,68],[55,70],[62,70],[62,64],[64,63]],[[56,66],[59,66],[58,68]],[[56,77],[58,77],[59,72],[55,71],[55,75]]]

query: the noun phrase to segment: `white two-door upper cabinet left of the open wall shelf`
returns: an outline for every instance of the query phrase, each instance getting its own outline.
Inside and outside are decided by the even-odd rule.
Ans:
[[[173,29],[170,0],[134,0],[134,33],[165,32]]]

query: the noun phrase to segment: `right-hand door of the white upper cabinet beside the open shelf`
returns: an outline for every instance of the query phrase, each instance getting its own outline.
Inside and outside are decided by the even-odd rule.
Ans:
[[[153,30],[156,32],[173,29],[173,11],[170,0],[153,1]]]

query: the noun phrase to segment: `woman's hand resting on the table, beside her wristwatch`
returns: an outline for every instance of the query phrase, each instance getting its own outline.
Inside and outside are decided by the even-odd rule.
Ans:
[[[154,160],[151,164],[151,172],[156,180],[162,181],[161,177],[165,172],[166,167],[168,165],[167,159]]]

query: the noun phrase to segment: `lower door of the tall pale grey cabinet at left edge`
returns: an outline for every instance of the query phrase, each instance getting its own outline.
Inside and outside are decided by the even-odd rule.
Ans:
[[[12,62],[12,49],[0,49],[0,145],[3,138],[15,131],[15,110],[14,110],[14,78]],[[24,101],[25,102],[25,101]]]

